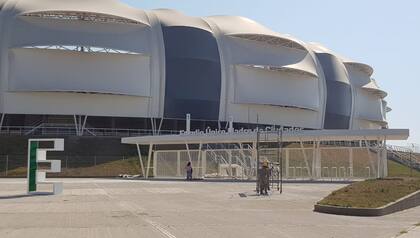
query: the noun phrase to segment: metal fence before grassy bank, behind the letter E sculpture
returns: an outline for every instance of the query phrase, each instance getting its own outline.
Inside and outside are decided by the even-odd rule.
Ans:
[[[141,175],[137,156],[48,156],[60,160],[62,172],[49,177],[117,177]],[[26,155],[0,155],[0,177],[26,177]]]

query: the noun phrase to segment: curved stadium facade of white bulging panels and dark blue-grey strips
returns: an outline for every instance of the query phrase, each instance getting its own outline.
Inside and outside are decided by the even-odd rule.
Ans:
[[[0,128],[387,127],[371,66],[238,16],[0,0]],[[74,123],[73,123],[74,122]]]

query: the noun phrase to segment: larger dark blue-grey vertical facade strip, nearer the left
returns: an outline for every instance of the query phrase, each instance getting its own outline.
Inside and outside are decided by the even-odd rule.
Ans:
[[[217,41],[209,31],[162,24],[166,57],[166,118],[218,120],[221,65]]]

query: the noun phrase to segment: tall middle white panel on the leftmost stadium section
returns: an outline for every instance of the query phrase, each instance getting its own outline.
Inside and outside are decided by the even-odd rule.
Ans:
[[[46,49],[10,50],[10,91],[150,96],[150,58]]]

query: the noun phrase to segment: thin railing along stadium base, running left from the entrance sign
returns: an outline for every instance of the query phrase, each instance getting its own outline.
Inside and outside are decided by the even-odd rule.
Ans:
[[[130,137],[147,135],[175,135],[178,131],[161,130],[153,131],[147,129],[119,129],[119,128],[85,128],[83,136],[85,137]],[[38,127],[15,127],[3,126],[0,135],[18,135],[18,136],[76,136],[77,130],[72,126],[38,126]]]

